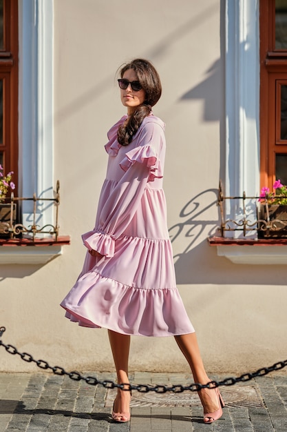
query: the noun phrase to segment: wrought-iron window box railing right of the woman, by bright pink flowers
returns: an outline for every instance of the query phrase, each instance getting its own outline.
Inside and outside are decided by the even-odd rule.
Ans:
[[[278,195],[280,197],[280,195]],[[270,204],[259,202],[260,197],[248,197],[245,191],[239,197],[225,197],[222,190],[222,181],[218,189],[217,205],[220,206],[220,234],[224,237],[227,231],[242,231],[244,237],[250,232],[258,233],[261,238],[270,237],[287,237],[287,217],[286,219],[277,219],[273,217],[273,212],[270,210]],[[262,198],[262,197],[261,197]],[[285,197],[286,198],[286,197]],[[226,200],[234,200],[240,205],[241,219],[226,219]],[[246,203],[252,206],[251,212],[247,212]],[[253,221],[248,219],[253,215]]]

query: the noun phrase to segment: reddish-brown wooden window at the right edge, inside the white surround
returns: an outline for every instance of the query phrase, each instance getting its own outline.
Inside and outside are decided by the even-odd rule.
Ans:
[[[260,177],[287,184],[287,1],[261,0]]]

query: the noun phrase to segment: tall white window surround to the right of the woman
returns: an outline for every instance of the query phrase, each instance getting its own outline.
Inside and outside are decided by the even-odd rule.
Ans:
[[[259,1],[226,0],[224,195],[259,193]],[[227,217],[237,219],[237,208]]]

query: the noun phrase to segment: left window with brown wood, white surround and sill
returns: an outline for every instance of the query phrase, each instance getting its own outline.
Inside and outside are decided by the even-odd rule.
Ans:
[[[3,84],[0,157],[5,168],[17,174],[18,197],[32,197],[35,193],[36,197],[50,199],[56,188],[53,171],[53,3],[54,0],[0,0],[0,66],[7,63],[2,83],[0,77],[0,95]],[[1,50],[1,31],[5,50]],[[10,141],[4,141],[9,131]],[[31,226],[33,212],[34,202],[25,200],[21,206],[24,226]],[[55,225],[54,213],[54,206],[36,206],[37,226]],[[45,264],[61,255],[62,245],[69,243],[67,236],[58,237],[56,241],[49,237],[37,238],[33,245],[27,239],[19,238],[17,245],[25,247],[16,248],[14,241],[11,244],[9,239],[3,239],[1,245],[5,244],[5,247],[0,247],[0,264]]]

